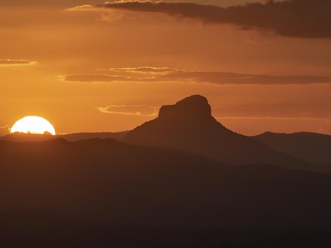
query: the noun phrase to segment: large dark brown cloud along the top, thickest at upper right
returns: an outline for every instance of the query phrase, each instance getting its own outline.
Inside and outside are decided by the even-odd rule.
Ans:
[[[247,3],[227,8],[195,3],[121,0],[103,5],[77,6],[70,10],[95,8],[164,13],[207,24],[235,24],[242,30],[269,30],[287,37],[331,38],[329,0],[268,0],[265,4]]]

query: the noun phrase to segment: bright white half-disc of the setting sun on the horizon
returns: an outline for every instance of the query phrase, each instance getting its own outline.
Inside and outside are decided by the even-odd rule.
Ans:
[[[43,134],[49,132],[55,135],[55,129],[52,124],[47,120],[38,116],[27,116],[18,120],[10,130],[11,133],[23,132],[23,133],[37,133]]]

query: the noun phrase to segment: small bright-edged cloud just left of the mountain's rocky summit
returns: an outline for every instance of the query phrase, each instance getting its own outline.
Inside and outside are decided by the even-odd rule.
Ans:
[[[97,107],[98,111],[105,114],[121,114],[130,116],[158,116],[160,107],[148,105],[111,105]]]

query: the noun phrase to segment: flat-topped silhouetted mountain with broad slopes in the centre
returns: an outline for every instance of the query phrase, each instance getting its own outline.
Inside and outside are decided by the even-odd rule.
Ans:
[[[272,163],[290,169],[315,171],[308,162],[226,129],[212,117],[211,106],[200,95],[187,97],[175,105],[162,106],[158,118],[130,131],[122,141],[175,148],[226,163]]]

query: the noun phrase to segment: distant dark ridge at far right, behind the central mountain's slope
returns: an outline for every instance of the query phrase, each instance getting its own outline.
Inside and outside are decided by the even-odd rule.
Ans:
[[[253,137],[270,148],[308,161],[331,172],[331,135],[312,132],[265,132]]]

